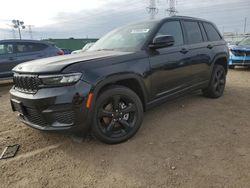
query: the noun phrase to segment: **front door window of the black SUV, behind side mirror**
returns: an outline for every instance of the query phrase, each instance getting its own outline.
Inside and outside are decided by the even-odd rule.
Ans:
[[[166,22],[162,25],[156,36],[172,35],[174,37],[174,46],[183,44],[181,24],[179,21]]]

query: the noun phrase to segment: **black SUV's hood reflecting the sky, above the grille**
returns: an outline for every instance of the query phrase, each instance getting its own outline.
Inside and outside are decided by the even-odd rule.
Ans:
[[[94,60],[110,59],[112,57],[124,56],[134,52],[121,51],[94,51],[79,54],[56,56],[21,63],[13,68],[18,73],[57,73],[65,67],[75,63],[87,63]]]

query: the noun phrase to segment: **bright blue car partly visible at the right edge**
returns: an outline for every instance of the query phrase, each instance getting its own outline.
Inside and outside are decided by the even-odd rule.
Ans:
[[[230,45],[229,68],[235,66],[250,67],[250,37],[244,38],[237,45]]]

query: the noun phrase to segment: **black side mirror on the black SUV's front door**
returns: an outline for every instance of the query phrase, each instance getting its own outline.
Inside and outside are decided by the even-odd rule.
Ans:
[[[174,37],[171,35],[160,35],[153,39],[153,42],[149,44],[149,48],[157,49],[174,45]]]

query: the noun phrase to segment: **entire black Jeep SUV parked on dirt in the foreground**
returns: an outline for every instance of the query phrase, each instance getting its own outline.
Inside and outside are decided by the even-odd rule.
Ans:
[[[143,111],[201,89],[223,94],[228,48],[209,21],[190,17],[130,24],[87,52],[13,69],[11,105],[22,122],[46,131],[91,130],[105,143],[131,138]]]

